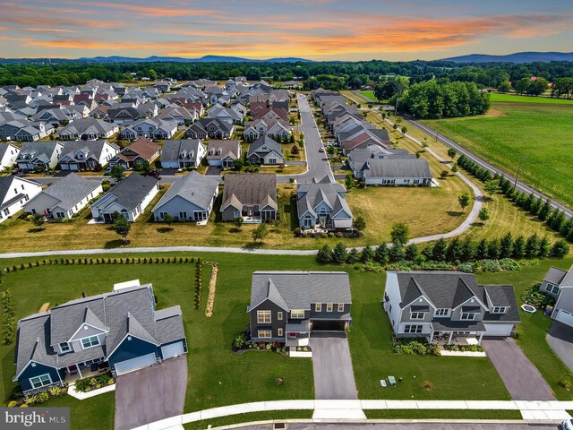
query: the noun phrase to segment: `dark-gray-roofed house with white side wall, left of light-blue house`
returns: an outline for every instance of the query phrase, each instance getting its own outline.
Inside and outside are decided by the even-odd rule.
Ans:
[[[133,173],[114,185],[90,206],[91,218],[114,222],[115,212],[133,222],[159,192],[159,181],[151,176]]]

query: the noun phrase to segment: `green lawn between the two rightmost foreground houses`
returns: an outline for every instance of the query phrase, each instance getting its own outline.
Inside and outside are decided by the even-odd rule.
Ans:
[[[568,270],[572,263],[573,258],[571,257],[565,260],[545,260],[538,266],[526,267],[517,273],[483,273],[477,276],[477,280],[483,283],[512,284],[516,289],[517,305],[522,305],[523,301],[520,297],[523,292],[535,282],[541,282],[551,266]],[[520,315],[521,323],[517,329],[519,332],[517,344],[523,349],[527,358],[539,369],[545,381],[552,387],[557,399],[573,400],[573,392],[565,390],[558,383],[563,375],[569,375],[573,381],[573,375],[545,340],[545,335],[552,323],[551,318],[539,311],[533,315],[520,312]]]

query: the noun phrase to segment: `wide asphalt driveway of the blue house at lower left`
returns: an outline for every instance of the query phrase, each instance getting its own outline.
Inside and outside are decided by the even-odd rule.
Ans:
[[[115,430],[128,430],[182,414],[186,390],[185,356],[117,376]]]

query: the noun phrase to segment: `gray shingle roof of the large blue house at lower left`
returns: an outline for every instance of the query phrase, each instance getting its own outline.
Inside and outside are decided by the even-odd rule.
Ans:
[[[154,311],[153,306],[148,284],[80,298],[23,318],[18,322],[16,373],[19,374],[30,359],[55,367],[99,357],[107,359],[128,334],[154,344],[184,339],[180,307]],[[82,323],[109,331],[106,344],[58,356],[52,347],[70,340]]]

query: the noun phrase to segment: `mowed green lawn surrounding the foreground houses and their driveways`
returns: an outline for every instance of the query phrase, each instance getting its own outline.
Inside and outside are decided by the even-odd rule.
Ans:
[[[126,257],[190,256],[189,254],[124,254]],[[248,351],[237,356],[230,345],[244,331],[248,322],[245,312],[249,303],[252,271],[325,270],[348,271],[353,298],[353,324],[349,342],[353,357],[355,381],[361,399],[416,400],[507,400],[500,377],[487,358],[398,356],[392,352],[389,321],[381,307],[384,273],[357,271],[351,266],[321,266],[313,257],[193,254],[204,261],[218,262],[218,284],[214,314],[207,318],[192,306],[193,266],[185,263],[41,265],[26,270],[5,273],[1,289],[13,293],[16,318],[38,312],[45,302],[52,305],[81,297],[81,292],[94,295],[113,288],[116,282],[138,278],[150,282],[158,297],[158,307],[181,305],[184,328],[188,339],[189,380],[185,412],[228,404],[260,400],[312,399],[312,362],[282,357],[277,353]],[[106,257],[118,257],[107,255]],[[81,257],[75,257],[81,258]],[[12,266],[31,259],[4,260],[2,266]],[[569,267],[573,259],[543,261],[539,266],[520,272],[480,275],[478,280],[490,283],[513,283],[517,297],[523,288],[543,279],[552,265]],[[207,297],[210,266],[203,265],[202,297]],[[67,288],[62,288],[65,285]],[[542,372],[561,400],[571,400],[569,391],[557,383],[567,373],[555,357],[544,333],[549,318],[540,313],[533,317],[522,314],[519,344]],[[0,394],[7,400],[13,389],[14,345],[0,346],[2,375]],[[470,370],[471,369],[471,370]],[[388,375],[403,378],[396,388],[381,388],[380,380]],[[275,384],[275,378],[284,380]],[[459,383],[463,381],[464,383]],[[471,386],[471,390],[467,387]],[[111,428],[113,399],[111,395],[93,400],[72,400],[69,396],[49,400],[46,406],[69,405],[75,422],[83,428]],[[81,412],[79,411],[81,407]],[[279,417],[279,416],[277,416]],[[80,421],[81,420],[81,421]],[[194,428],[194,427],[190,427]]]

